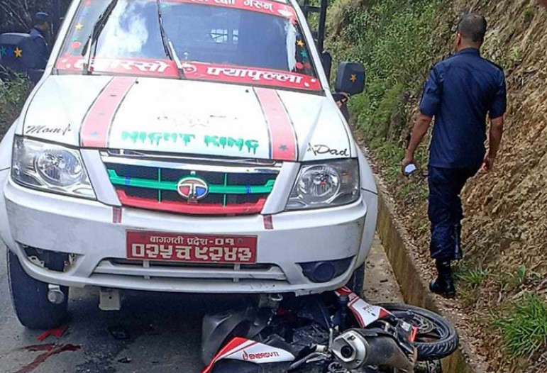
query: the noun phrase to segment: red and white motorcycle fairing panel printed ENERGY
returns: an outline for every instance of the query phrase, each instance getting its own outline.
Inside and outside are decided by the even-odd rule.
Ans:
[[[255,364],[267,364],[272,362],[292,362],[294,355],[281,348],[264,345],[263,343],[236,337],[228,342],[215,355],[213,360],[201,373],[209,373],[219,360],[241,360]]]

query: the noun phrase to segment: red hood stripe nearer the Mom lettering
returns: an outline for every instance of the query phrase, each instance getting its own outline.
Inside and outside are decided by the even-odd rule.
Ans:
[[[84,118],[80,131],[82,146],[106,147],[112,120],[135,81],[134,77],[114,77],[101,91]]]

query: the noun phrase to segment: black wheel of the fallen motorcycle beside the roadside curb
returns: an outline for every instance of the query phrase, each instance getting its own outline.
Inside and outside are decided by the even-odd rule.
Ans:
[[[418,327],[414,345],[419,361],[441,360],[458,348],[459,337],[451,323],[424,308],[407,304],[378,304],[397,318]]]

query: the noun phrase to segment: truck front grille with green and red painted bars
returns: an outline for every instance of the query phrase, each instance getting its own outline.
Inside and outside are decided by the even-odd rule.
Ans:
[[[199,215],[260,213],[270,195],[278,167],[249,167],[214,163],[154,162],[104,157],[104,165],[124,206]],[[208,193],[187,198],[178,184],[185,178],[206,183]]]

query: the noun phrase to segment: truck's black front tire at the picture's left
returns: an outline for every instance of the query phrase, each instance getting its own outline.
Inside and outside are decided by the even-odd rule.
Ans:
[[[48,284],[26,274],[17,255],[8,252],[8,282],[11,301],[19,322],[30,329],[50,329],[67,318],[68,288],[61,286],[65,300],[61,304],[48,301]]]

